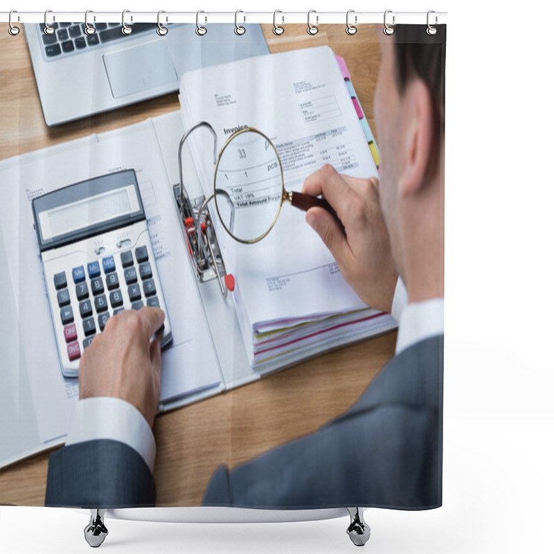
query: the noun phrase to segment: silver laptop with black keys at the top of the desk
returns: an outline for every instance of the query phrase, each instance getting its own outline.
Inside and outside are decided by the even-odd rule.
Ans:
[[[35,80],[46,125],[60,125],[102,111],[141,102],[179,89],[186,71],[269,53],[260,25],[213,24],[199,36],[195,24],[169,24],[160,37],[157,24],[136,23],[123,35],[119,23],[25,24]]]

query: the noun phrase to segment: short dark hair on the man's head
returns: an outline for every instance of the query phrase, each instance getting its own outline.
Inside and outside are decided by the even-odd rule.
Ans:
[[[423,25],[396,25],[394,39],[396,82],[400,94],[414,78],[427,85],[433,105],[433,142],[428,172],[437,168],[440,141],[445,129],[446,25],[437,25],[436,35],[428,35]]]

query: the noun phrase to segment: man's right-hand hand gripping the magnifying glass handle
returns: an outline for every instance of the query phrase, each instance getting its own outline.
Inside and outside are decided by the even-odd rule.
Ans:
[[[398,276],[379,205],[379,181],[339,175],[327,164],[305,180],[302,192],[323,195],[343,224],[344,230],[323,208],[306,213],[346,282],[370,307],[390,312]]]

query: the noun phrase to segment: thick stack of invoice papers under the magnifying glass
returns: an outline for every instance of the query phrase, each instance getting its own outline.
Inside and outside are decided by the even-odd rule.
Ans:
[[[334,54],[308,48],[186,73],[179,100],[187,129],[210,123],[219,145],[232,129],[256,127],[276,146],[285,189],[299,191],[325,163],[354,177],[377,176],[368,140]],[[190,136],[206,197],[213,192],[213,143]],[[256,244],[233,240],[211,206],[251,366],[278,368],[395,327],[368,308],[343,280],[305,215],[285,204]]]

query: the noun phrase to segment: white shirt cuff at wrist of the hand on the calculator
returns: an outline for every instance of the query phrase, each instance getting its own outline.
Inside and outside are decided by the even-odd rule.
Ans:
[[[131,447],[154,472],[154,434],[142,413],[129,402],[107,396],[76,402],[66,446],[99,439],[118,440]]]

